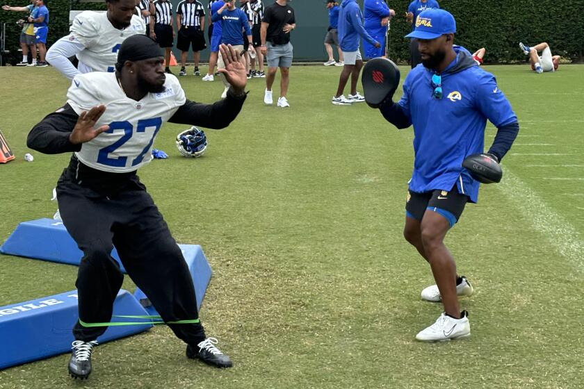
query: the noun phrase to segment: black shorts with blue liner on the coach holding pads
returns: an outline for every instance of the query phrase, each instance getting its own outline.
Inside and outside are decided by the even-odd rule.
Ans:
[[[418,193],[408,189],[405,213],[413,219],[422,220],[426,209],[430,209],[444,216],[452,227],[460,219],[468,201],[469,197],[460,194],[456,184],[450,192],[433,190],[432,192]]]

